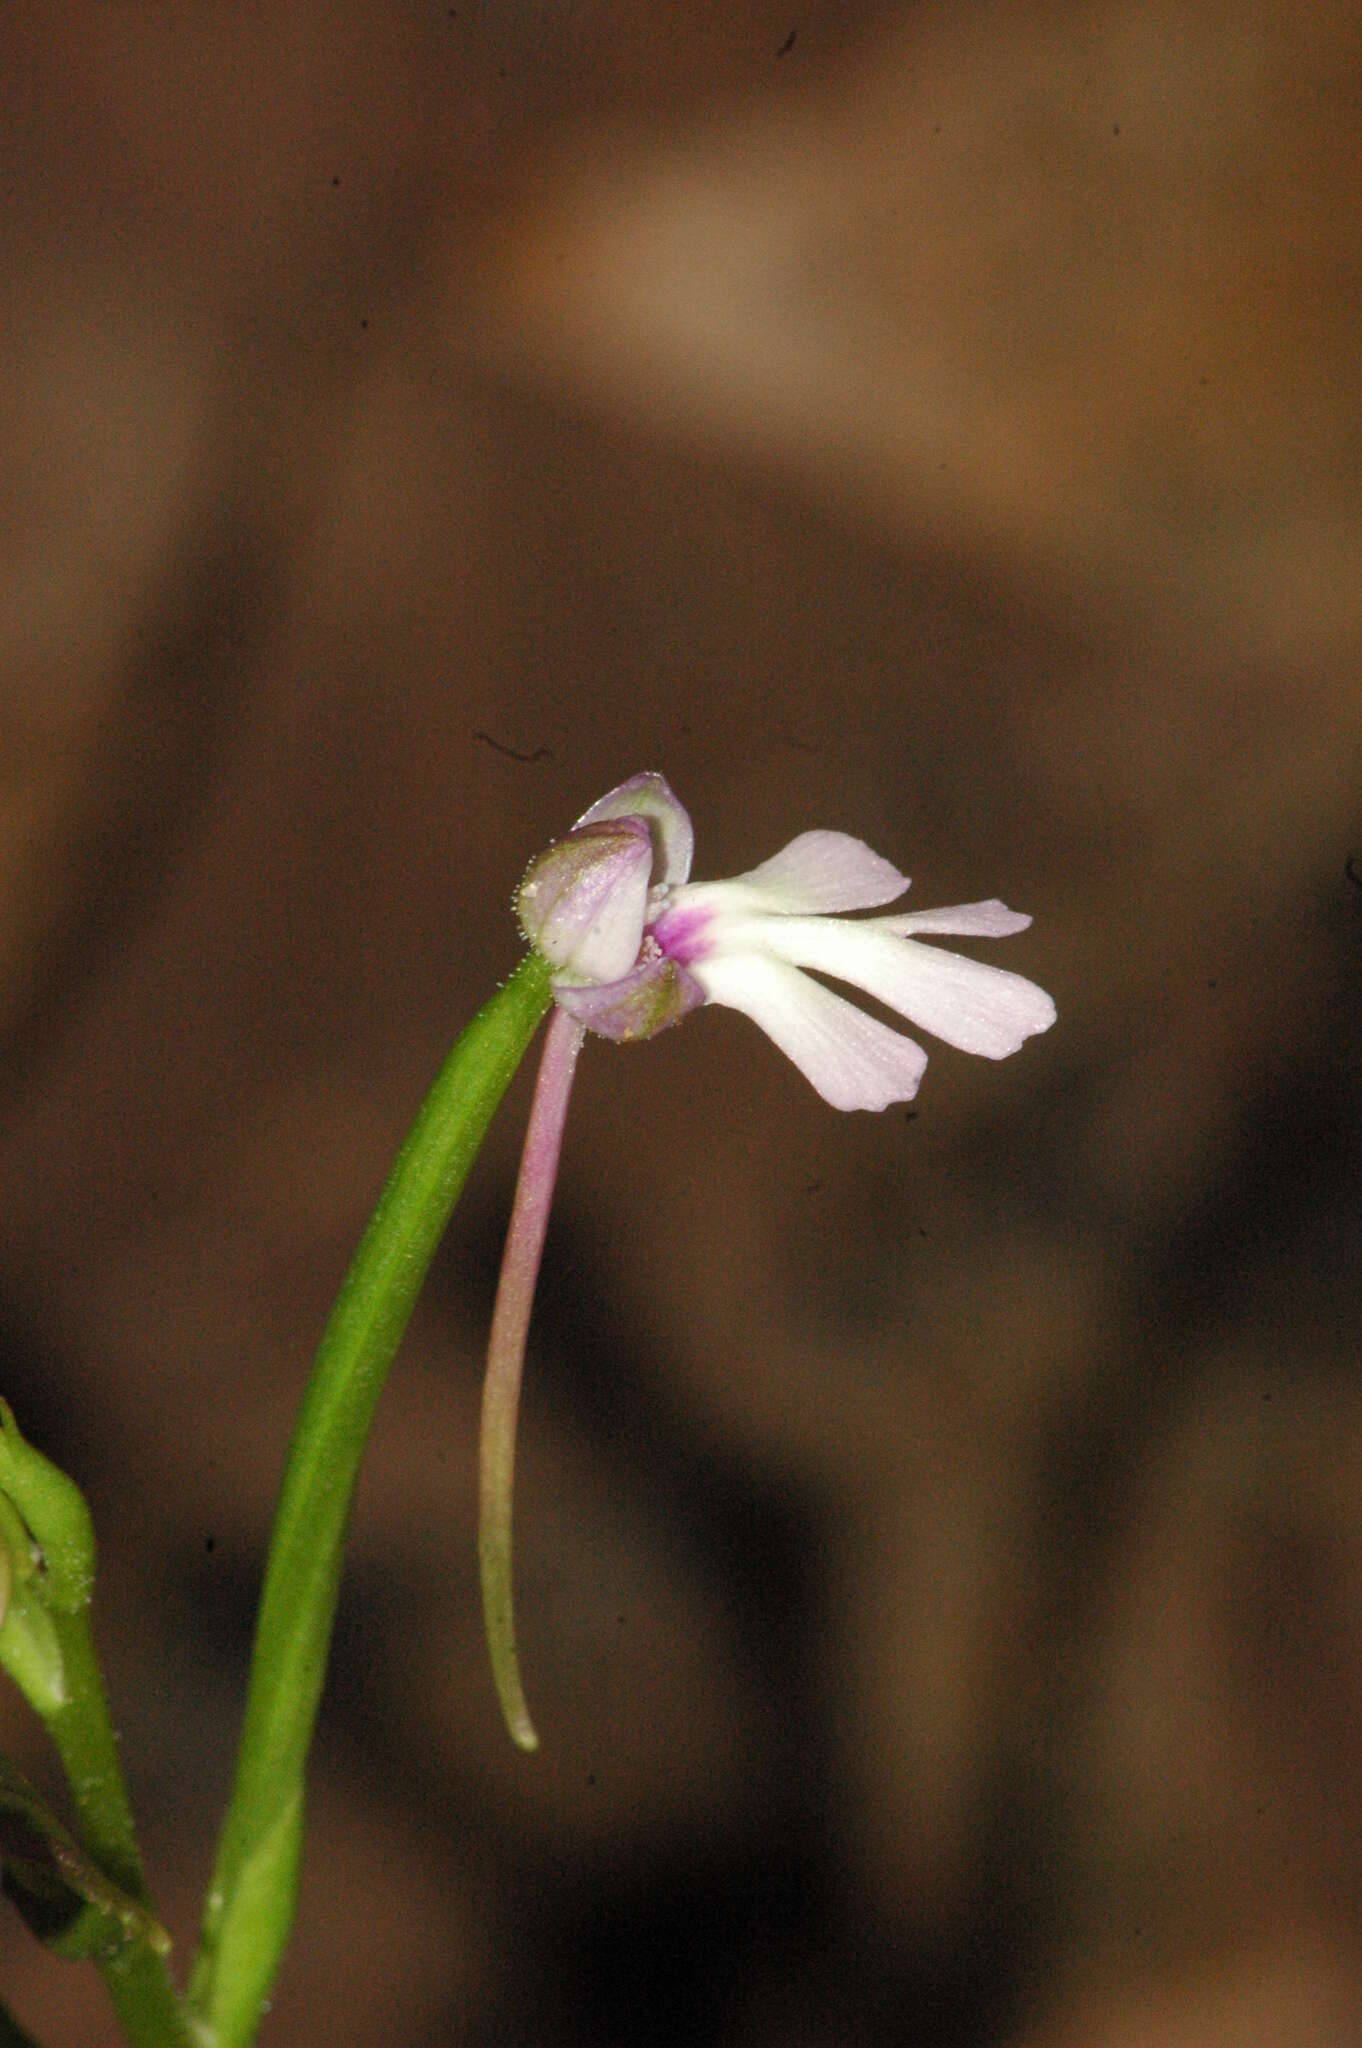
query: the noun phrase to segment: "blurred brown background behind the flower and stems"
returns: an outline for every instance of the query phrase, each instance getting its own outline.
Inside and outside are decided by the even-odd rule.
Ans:
[[[264,2038],[1362,2042],[1358,6],[18,6],[0,94],[0,1384],[180,1954],[348,1251],[520,864],[657,766],[700,874],[836,825],[1034,911],[1061,1022],[911,1118],[727,1014],[590,1049],[530,1761],[520,1079]],[[0,1985],[111,2038],[8,1909]]]

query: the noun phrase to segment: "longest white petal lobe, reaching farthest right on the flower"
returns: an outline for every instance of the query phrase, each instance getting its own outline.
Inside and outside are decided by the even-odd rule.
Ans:
[[[1055,1022],[1055,1004],[1034,981],[916,938],[897,938],[885,930],[889,922],[897,920],[750,918],[725,928],[723,946],[772,952],[793,967],[850,981],[946,1044],[987,1059],[1006,1059]]]

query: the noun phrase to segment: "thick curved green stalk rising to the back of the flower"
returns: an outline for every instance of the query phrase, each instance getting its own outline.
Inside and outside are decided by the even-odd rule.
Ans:
[[[326,1325],[274,1513],[236,1784],[190,2005],[215,2048],[254,2040],[293,1925],[303,1767],[322,1696],[350,1497],[375,1403],[492,1114],[549,1008],[528,954],[436,1075]]]

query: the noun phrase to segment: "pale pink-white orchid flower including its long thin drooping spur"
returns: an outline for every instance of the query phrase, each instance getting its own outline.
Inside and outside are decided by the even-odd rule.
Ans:
[[[844,981],[963,1053],[1006,1059],[1055,1022],[1034,981],[924,938],[1008,938],[1030,918],[995,897],[848,922],[907,889],[844,831],[805,831],[748,874],[692,883],[690,817],[659,774],[637,774],[528,868],[516,909],[553,971],[555,1012],[520,1161],[492,1317],[481,1427],[481,1579],[502,1710],[537,1737],[520,1688],[510,1599],[510,1495],[524,1339],[571,1077],[588,1030],[651,1038],[703,1004],[741,1010],[836,1110],[918,1094],[928,1055],[905,1032],[813,981]]]

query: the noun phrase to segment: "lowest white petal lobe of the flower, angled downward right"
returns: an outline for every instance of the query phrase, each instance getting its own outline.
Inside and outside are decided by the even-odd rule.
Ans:
[[[715,1004],[741,1010],[795,1061],[834,1110],[911,1102],[928,1055],[911,1038],[760,954],[715,954],[694,969]]]

